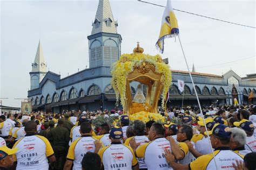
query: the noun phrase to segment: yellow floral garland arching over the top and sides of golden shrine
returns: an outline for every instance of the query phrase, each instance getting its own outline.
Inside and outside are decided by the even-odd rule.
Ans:
[[[129,73],[133,71],[133,68],[142,64],[142,62],[151,63],[156,67],[156,72],[164,75],[164,88],[161,93],[162,101],[161,107],[164,109],[165,96],[171,86],[172,76],[170,66],[161,62],[160,55],[149,55],[143,53],[123,54],[120,59],[113,63],[111,68],[112,80],[111,85],[116,92],[117,101],[121,101],[123,107],[125,107],[125,91],[126,91],[126,79]]]

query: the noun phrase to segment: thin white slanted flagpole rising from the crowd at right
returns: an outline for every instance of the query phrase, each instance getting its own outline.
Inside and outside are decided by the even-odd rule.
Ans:
[[[179,34],[177,34],[177,35],[178,35],[178,38],[179,38]],[[190,72],[190,68],[188,67],[188,64],[187,64],[187,59],[186,59],[186,56],[185,56],[183,47],[182,47],[182,45],[181,45],[180,38],[179,38],[179,44],[180,44],[180,47],[181,47],[181,50],[182,50],[182,53],[183,53],[183,56],[184,56],[184,59],[185,59],[186,65],[187,65],[188,73],[190,74],[190,78],[191,78],[191,82],[192,82],[193,87],[194,87],[194,91],[195,91],[196,96],[197,96],[197,102],[198,102],[198,105],[199,105],[200,114],[202,115],[202,118],[203,118],[203,121],[204,121],[204,124],[205,124],[205,130],[206,130],[206,133],[207,133],[208,141],[209,141],[210,146],[211,146],[211,150],[212,150],[212,155],[213,155],[214,163],[215,163],[216,169],[218,169],[217,162],[216,162],[216,160],[215,160],[215,156],[214,156],[213,149],[212,149],[212,144],[211,144],[211,141],[210,141],[210,136],[209,136],[209,133],[208,133],[208,130],[207,130],[207,127],[206,127],[206,123],[205,123],[203,111],[202,111],[202,109],[201,109],[201,105],[200,105],[199,98],[198,98],[198,95],[197,95],[197,90],[196,90],[196,87],[194,86],[194,81],[193,81],[193,79],[192,79],[192,75],[191,75],[191,72]]]

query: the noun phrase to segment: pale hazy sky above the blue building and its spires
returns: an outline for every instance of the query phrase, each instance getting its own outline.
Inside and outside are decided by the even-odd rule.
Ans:
[[[0,0],[1,1],[1,0]],[[166,1],[150,1],[166,5]],[[132,53],[136,42],[144,53],[160,54],[154,46],[164,8],[137,0],[110,0],[118,20],[122,53]],[[51,72],[66,77],[89,67],[87,36],[91,34],[98,1],[5,1],[0,2],[0,100],[21,107],[30,88],[31,63],[39,39]],[[229,22],[256,26],[256,3],[251,1],[178,1],[174,9]],[[188,65],[196,72],[223,75],[232,69],[239,76],[256,73],[256,29],[218,22],[174,11]],[[178,39],[165,40],[162,58],[171,69],[187,70]],[[8,98],[8,99],[3,99]]]

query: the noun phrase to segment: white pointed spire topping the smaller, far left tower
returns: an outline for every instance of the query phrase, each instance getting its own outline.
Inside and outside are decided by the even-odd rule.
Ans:
[[[37,46],[37,52],[35,56],[35,61],[32,63],[32,72],[47,72],[46,62],[44,60],[43,49],[41,46],[41,42],[39,40]]]

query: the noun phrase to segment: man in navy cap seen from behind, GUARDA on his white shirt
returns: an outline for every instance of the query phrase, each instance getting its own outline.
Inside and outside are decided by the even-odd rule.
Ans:
[[[122,128],[114,126],[110,130],[111,145],[103,147],[98,154],[102,159],[104,169],[139,169],[138,161],[130,146],[121,143]]]

